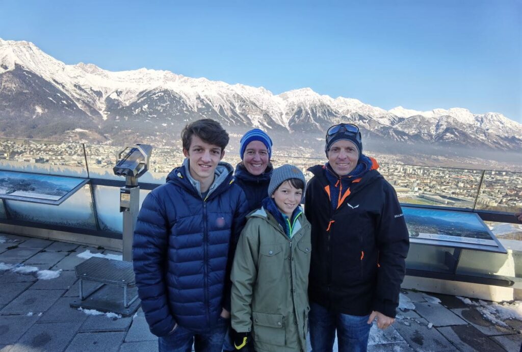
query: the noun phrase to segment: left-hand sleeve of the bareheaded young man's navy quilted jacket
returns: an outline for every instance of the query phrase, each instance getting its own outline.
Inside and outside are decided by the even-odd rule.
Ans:
[[[150,331],[156,336],[167,335],[176,324],[169,310],[164,281],[169,228],[164,205],[158,201],[156,192],[149,193],[136,223],[133,265],[141,307]]]

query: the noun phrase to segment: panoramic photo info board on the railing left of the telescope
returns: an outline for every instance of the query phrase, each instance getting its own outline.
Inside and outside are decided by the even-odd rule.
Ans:
[[[0,198],[60,205],[88,181],[86,178],[0,171]]]

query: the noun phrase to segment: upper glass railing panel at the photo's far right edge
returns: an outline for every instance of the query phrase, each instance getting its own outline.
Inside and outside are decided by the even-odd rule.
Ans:
[[[484,171],[476,209],[517,212],[522,209],[522,173]]]

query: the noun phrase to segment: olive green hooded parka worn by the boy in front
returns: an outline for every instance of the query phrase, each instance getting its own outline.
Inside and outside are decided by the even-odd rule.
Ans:
[[[310,223],[294,215],[291,238],[261,208],[247,216],[232,265],[232,327],[256,351],[306,350]]]

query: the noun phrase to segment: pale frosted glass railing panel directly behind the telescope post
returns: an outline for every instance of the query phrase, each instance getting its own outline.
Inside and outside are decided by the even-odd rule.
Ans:
[[[150,191],[139,190],[139,207]],[[120,213],[120,188],[94,186],[94,199],[100,229],[105,232],[122,233],[123,215]]]

